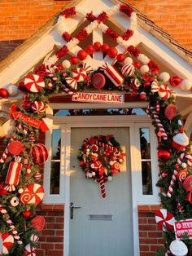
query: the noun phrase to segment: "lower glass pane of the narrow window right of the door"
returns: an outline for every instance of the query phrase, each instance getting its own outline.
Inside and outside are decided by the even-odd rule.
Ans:
[[[151,161],[142,161],[142,194],[152,195]]]

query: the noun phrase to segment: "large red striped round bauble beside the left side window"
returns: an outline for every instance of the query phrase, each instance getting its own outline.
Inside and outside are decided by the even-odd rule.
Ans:
[[[48,151],[45,145],[41,143],[36,143],[31,148],[30,155],[35,164],[42,165],[47,160]]]

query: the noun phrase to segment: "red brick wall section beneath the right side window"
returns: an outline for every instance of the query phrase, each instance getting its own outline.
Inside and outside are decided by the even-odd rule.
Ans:
[[[164,247],[163,232],[155,223],[155,212],[159,206],[141,205],[137,210],[140,256],[154,256],[157,249]]]

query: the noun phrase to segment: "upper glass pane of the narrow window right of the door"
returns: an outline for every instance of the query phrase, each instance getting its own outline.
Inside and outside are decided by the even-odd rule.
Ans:
[[[151,159],[150,129],[140,128],[140,145],[142,159]]]

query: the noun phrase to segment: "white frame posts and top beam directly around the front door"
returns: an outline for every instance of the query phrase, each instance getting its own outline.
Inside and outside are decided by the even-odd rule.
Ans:
[[[64,210],[64,255],[69,256],[69,223],[70,223],[70,152],[71,152],[71,128],[73,127],[129,127],[130,137],[130,159],[131,159],[131,182],[132,182],[132,211],[133,211],[133,252],[139,256],[139,236],[137,218],[137,166],[134,161],[137,150],[137,138],[134,132],[134,123],[146,123],[151,125],[151,120],[146,116],[83,116],[83,117],[54,117],[55,124],[61,124],[64,128],[63,136],[65,141],[65,210]],[[99,121],[98,121],[99,120]],[[136,228],[137,227],[137,228]]]

